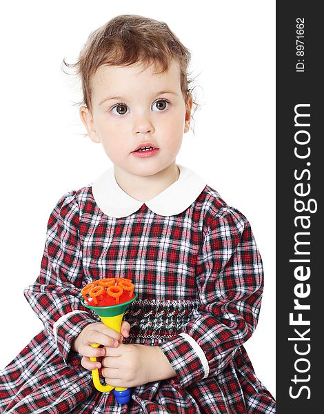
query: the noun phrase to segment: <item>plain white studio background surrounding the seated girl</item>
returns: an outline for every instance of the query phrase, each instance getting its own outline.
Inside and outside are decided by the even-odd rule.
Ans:
[[[275,394],[274,3],[59,0],[1,6],[0,368],[42,328],[23,289],[39,274],[52,208],[111,165],[101,145],[83,136],[73,104],[81,100],[79,85],[61,71],[61,62],[74,62],[88,34],[112,17],[141,14],[168,23],[192,51],[201,110],[176,161],[205,177],[252,225],[265,290],[246,349],[256,375]]]

